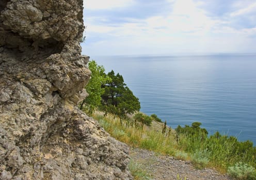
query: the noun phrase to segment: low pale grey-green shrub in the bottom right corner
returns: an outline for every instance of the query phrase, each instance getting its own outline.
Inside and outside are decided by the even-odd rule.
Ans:
[[[243,164],[242,162],[236,163],[235,166],[228,168],[228,174],[236,179],[256,179],[256,171],[253,167]]]

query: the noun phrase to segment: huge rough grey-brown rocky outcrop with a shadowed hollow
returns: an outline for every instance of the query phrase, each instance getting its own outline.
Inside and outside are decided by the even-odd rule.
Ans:
[[[75,104],[82,0],[0,2],[0,179],[131,179],[126,145]]]

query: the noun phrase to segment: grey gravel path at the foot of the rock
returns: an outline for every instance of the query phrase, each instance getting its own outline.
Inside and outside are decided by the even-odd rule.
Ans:
[[[130,156],[135,162],[142,164],[150,172],[152,179],[155,180],[177,179],[177,175],[182,179],[186,177],[186,180],[231,179],[213,169],[197,170],[189,161],[177,160],[171,156],[157,156],[154,152],[147,150],[131,148]]]

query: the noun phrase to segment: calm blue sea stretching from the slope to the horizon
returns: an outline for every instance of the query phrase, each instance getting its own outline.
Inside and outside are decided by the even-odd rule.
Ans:
[[[168,125],[202,122],[256,145],[256,55],[91,57],[120,73],[141,111]]]

